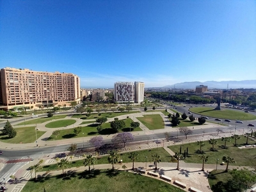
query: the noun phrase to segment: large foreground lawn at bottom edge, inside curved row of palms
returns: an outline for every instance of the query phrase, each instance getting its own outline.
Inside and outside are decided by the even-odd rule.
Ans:
[[[55,177],[44,177],[38,182],[29,180],[22,192],[38,191],[54,192],[98,192],[98,191],[122,191],[122,192],[148,192],[148,191],[172,191],[182,192],[182,189],[176,188],[164,181],[152,179],[147,176],[125,172],[121,170],[95,170],[93,173],[81,172],[63,178],[61,175]]]

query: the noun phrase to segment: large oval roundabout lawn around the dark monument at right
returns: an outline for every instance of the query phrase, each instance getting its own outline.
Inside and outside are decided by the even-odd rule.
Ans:
[[[230,109],[221,108],[220,111],[214,110],[214,108],[190,108],[193,113],[204,116],[212,116],[214,118],[223,118],[230,120],[255,120],[256,116],[250,113],[244,113],[244,111],[235,111]]]

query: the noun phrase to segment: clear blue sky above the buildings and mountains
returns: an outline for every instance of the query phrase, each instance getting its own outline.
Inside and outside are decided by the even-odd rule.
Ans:
[[[0,68],[84,88],[256,79],[256,1],[0,1]]]

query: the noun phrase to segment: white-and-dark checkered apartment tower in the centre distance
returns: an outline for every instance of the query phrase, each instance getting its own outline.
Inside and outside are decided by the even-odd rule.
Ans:
[[[116,82],[114,99],[118,104],[140,103],[144,99],[144,86],[143,82]]]

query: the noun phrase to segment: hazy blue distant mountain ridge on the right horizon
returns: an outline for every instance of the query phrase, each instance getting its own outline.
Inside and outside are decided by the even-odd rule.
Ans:
[[[208,89],[237,89],[237,88],[256,88],[256,80],[244,80],[244,81],[193,81],[176,83],[172,85],[163,86],[164,88],[182,88],[182,89],[195,89],[196,86],[204,84],[208,86]]]

